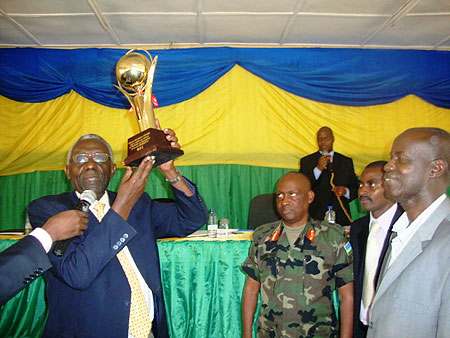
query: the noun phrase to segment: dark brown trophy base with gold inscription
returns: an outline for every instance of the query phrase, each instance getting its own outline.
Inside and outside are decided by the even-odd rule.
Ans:
[[[154,167],[183,155],[181,149],[173,148],[162,130],[149,128],[128,139],[126,166],[137,167],[146,156],[155,156]]]

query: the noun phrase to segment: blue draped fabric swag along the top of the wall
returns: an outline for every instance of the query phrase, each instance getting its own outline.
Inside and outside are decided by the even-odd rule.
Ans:
[[[192,48],[158,55],[153,93],[159,105],[190,99],[234,65],[301,97],[370,106],[414,94],[450,108],[450,52],[327,48]],[[71,90],[113,108],[129,108],[114,88],[123,49],[0,49],[0,95],[43,102]]]

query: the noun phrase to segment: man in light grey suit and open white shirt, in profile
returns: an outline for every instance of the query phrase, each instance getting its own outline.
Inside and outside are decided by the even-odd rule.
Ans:
[[[392,144],[387,194],[405,213],[392,228],[370,313],[368,337],[450,333],[450,134],[412,128]]]

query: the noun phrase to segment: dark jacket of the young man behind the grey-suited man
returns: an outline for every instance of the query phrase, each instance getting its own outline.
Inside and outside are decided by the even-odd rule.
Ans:
[[[402,207],[397,204],[397,210],[395,211],[394,217],[392,218],[391,225],[386,234],[384,240],[383,248],[381,249],[381,255],[378,260],[378,268],[375,274],[375,280],[379,274],[379,269],[381,263],[383,262],[384,255],[389,246],[389,237],[392,230],[392,226],[397,222],[398,218],[403,214]],[[363,323],[359,320],[359,312],[361,310],[361,298],[362,298],[362,287],[364,279],[364,268],[366,260],[366,247],[367,238],[369,237],[369,222],[370,215],[366,215],[354,221],[350,228],[350,243],[353,248],[353,275],[354,281],[354,307],[353,307],[353,336],[358,338],[363,338],[366,336],[366,330],[363,328]],[[376,281],[375,281],[376,285]]]

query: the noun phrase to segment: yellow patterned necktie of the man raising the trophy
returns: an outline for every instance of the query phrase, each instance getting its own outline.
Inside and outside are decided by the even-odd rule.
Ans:
[[[105,213],[105,204],[97,202],[93,208],[97,212],[97,219],[101,222]],[[135,338],[148,338],[152,323],[139,280],[123,250],[117,254],[117,258],[122,265],[131,289],[130,321],[128,324],[130,334]]]

